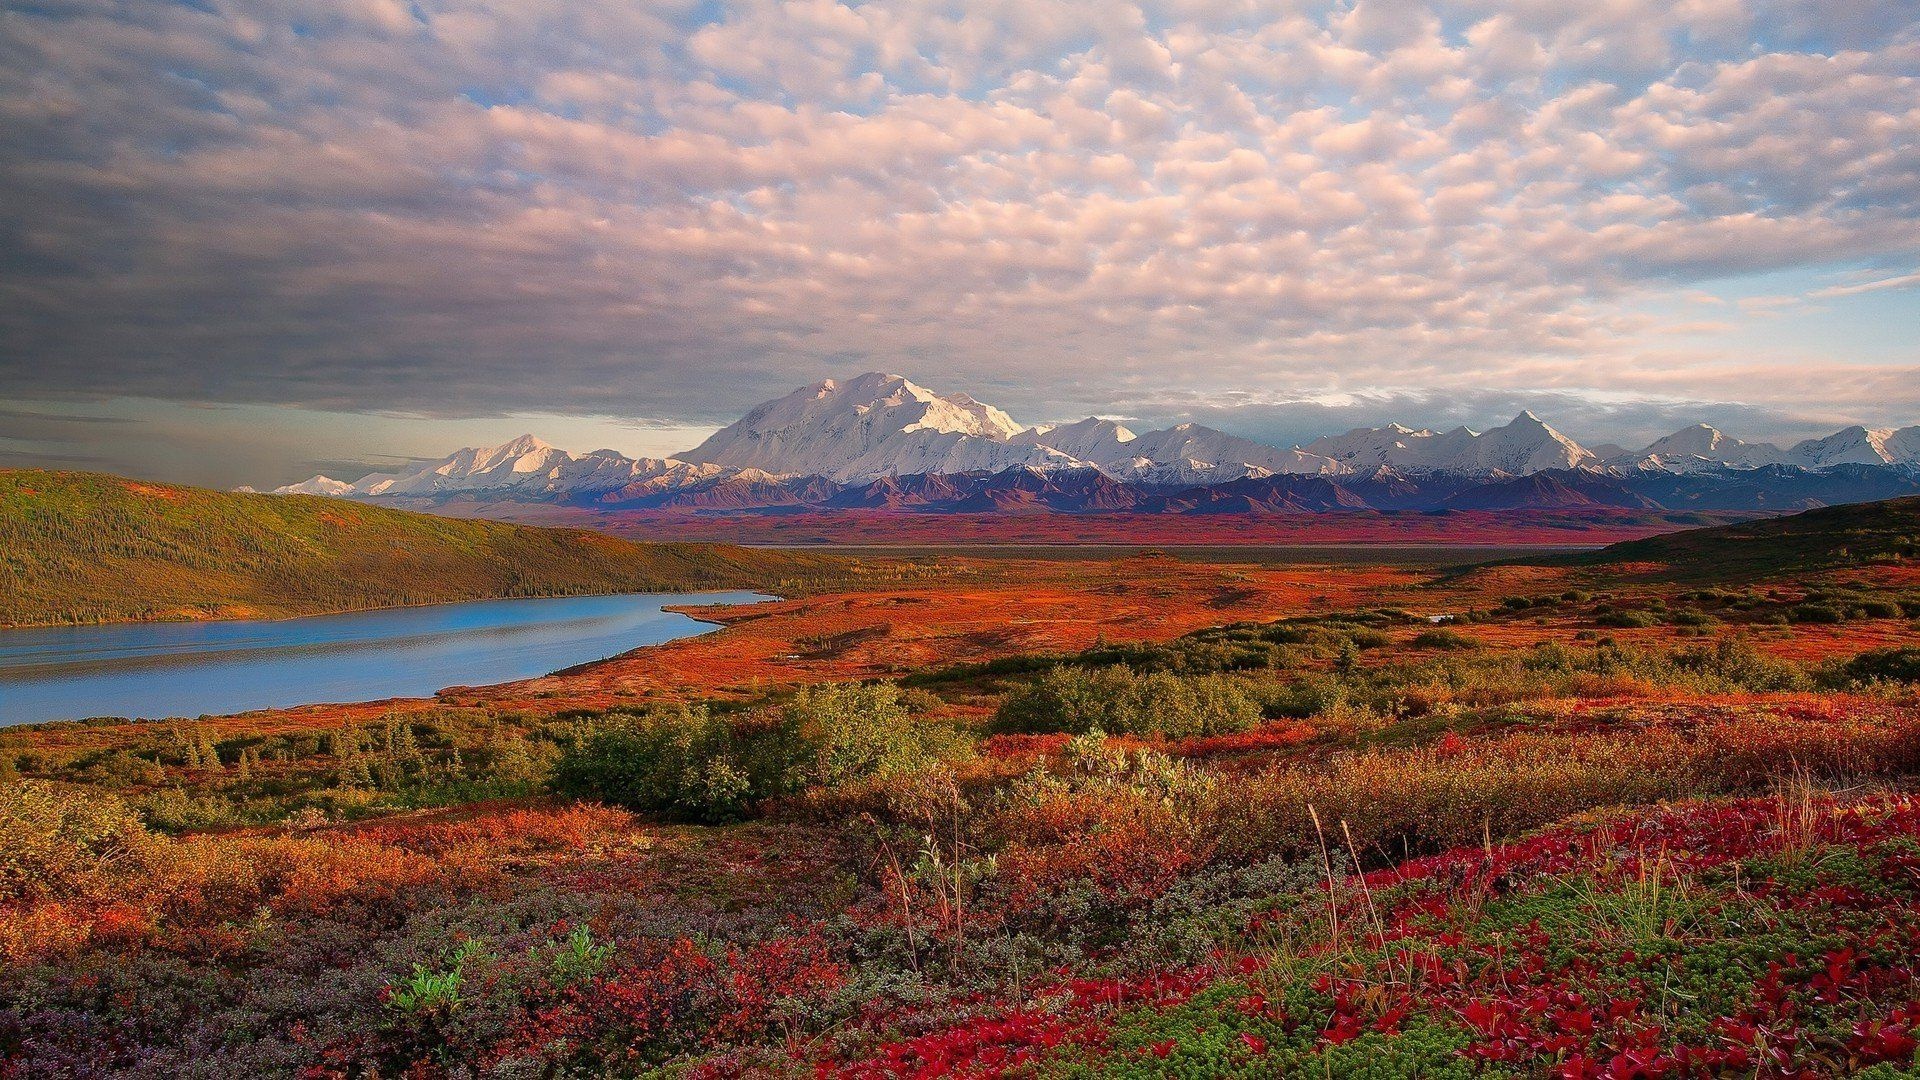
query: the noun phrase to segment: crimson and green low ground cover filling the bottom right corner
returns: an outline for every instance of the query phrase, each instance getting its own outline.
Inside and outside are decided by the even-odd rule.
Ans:
[[[1628,1080],[1910,1065],[1920,803],[1615,813],[1340,876],[1256,915],[1242,942],[1200,969],[979,1003],[970,1022],[818,1072]]]

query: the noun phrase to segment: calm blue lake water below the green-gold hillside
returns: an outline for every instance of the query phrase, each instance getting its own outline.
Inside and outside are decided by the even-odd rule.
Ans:
[[[0,726],[428,698],[714,630],[662,611],[755,592],[563,596],[311,619],[0,630]]]

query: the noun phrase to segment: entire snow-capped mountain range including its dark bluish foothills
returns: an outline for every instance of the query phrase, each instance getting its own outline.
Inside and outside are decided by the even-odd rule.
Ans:
[[[1315,509],[1801,509],[1920,492],[1920,427],[1849,427],[1791,448],[1693,425],[1588,450],[1530,411],[1476,432],[1388,425],[1277,448],[1202,425],[1087,417],[1021,427],[904,377],[822,380],[672,457],[570,454],[534,436],[397,473],[276,494],[599,509],[1302,513]]]

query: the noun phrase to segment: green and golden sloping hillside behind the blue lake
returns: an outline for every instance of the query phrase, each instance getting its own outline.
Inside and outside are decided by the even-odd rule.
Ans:
[[[501,596],[774,588],[843,559],[634,544],[96,473],[0,471],[0,625],[282,617]]]

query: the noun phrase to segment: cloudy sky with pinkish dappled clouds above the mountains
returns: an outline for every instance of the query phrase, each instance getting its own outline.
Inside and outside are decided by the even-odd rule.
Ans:
[[[1920,423],[1912,0],[0,4],[0,467]]]

